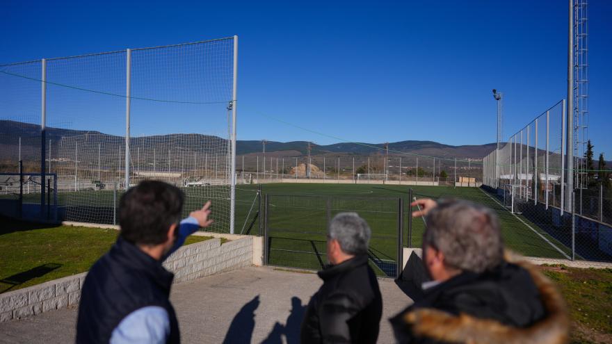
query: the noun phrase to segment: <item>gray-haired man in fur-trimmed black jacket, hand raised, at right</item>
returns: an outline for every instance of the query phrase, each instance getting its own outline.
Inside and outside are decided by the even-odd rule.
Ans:
[[[460,200],[411,204],[427,215],[424,296],[391,319],[398,343],[565,343],[561,295],[536,267],[504,255],[497,215]]]

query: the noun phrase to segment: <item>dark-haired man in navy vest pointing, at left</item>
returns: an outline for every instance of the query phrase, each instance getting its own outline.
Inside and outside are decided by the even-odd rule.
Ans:
[[[183,203],[182,191],[161,181],[142,181],[124,193],[117,242],[81,290],[77,343],[179,343],[168,299],[174,275],[161,263],[212,223],[210,202],[181,221]]]

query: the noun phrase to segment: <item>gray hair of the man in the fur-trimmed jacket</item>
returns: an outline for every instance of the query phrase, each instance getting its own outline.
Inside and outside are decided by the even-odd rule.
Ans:
[[[423,248],[444,254],[449,268],[484,272],[504,259],[497,215],[489,208],[462,200],[446,200],[427,215]]]

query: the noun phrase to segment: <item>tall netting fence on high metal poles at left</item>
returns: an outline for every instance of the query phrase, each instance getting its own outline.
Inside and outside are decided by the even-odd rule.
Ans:
[[[122,190],[183,188],[230,231],[237,38],[0,65],[0,172],[58,176],[60,217],[113,223]],[[35,191],[44,205],[45,189]]]

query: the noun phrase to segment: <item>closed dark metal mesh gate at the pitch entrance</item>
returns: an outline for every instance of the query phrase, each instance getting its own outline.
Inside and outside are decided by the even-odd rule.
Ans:
[[[401,198],[268,194],[264,206],[266,265],[321,270],[328,263],[330,220],[337,213],[353,211],[371,228],[368,255],[376,275],[396,278],[401,273]]]

